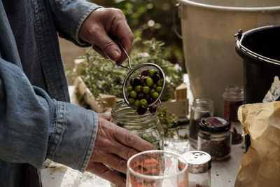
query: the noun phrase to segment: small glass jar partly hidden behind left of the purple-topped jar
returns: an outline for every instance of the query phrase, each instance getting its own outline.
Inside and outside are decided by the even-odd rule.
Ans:
[[[211,99],[197,98],[190,107],[190,145],[197,148],[197,132],[200,130],[199,124],[202,118],[214,115],[214,104]]]

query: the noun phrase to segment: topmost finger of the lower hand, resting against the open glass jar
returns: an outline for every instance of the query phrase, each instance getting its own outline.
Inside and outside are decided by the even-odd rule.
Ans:
[[[153,144],[144,139],[141,139],[141,137],[133,134],[128,130],[123,129],[122,127],[116,126],[116,130],[113,135],[122,144],[135,148],[138,151],[148,151],[151,149],[156,149]]]

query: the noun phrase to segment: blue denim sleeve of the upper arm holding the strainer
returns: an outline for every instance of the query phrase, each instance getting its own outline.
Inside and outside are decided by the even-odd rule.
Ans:
[[[59,36],[73,41],[78,46],[86,45],[78,38],[80,26],[92,11],[101,6],[86,0],[49,0],[52,13],[55,15],[56,27]]]

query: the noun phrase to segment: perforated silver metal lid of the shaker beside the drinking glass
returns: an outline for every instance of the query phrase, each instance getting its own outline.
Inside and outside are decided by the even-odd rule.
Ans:
[[[188,162],[188,172],[200,174],[211,169],[211,155],[204,151],[189,151],[183,154],[183,158]]]

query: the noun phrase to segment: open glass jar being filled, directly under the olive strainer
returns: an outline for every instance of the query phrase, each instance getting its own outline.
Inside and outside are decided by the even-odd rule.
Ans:
[[[125,102],[119,102],[113,106],[111,114],[113,123],[130,130],[149,141],[156,148],[163,150],[163,129],[157,112],[146,112],[143,115],[139,115]]]

